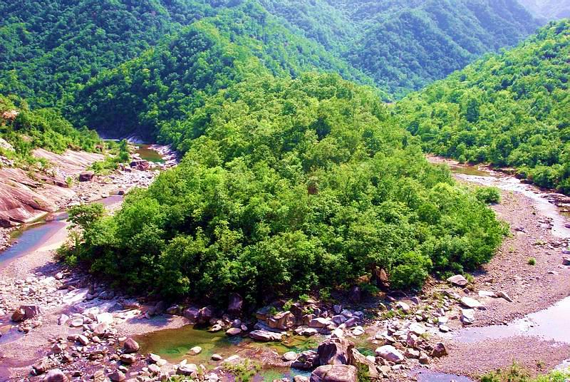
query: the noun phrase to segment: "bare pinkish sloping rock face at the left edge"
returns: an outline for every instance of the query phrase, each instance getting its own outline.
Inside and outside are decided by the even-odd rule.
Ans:
[[[51,162],[43,172],[28,172],[17,167],[0,168],[0,226],[11,227],[30,222],[46,212],[54,212],[75,196],[66,182],[76,177],[103,155],[66,151],[61,155],[43,149],[33,155]]]

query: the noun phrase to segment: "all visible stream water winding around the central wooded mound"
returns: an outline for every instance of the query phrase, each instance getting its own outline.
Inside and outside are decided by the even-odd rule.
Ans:
[[[152,162],[160,162],[161,160],[160,155],[150,149],[149,145],[140,145],[137,152],[142,159]],[[436,158],[436,160],[438,159]],[[538,210],[547,217],[551,217],[554,224],[552,228],[553,234],[558,237],[570,237],[570,229],[566,227],[569,221],[564,216],[563,210],[553,202],[553,200],[556,200],[556,198],[553,199],[553,195],[556,196],[556,194],[539,190],[537,187],[521,182],[516,177],[504,175],[501,172],[482,170],[481,167],[447,164],[450,165],[452,172],[461,180],[478,185],[498,187],[501,190],[511,192],[522,192],[522,194],[534,201]],[[564,197],[564,195],[559,196]],[[112,205],[121,200],[122,197],[114,195],[98,202]],[[67,227],[68,222],[66,222],[66,219],[66,212],[58,212],[48,215],[48,218],[43,219],[41,222],[28,224],[26,227],[16,231],[16,244],[0,253],[0,267],[5,266],[16,258],[33,252],[39,247],[45,246],[55,234]],[[472,342],[484,341],[485,339],[500,339],[507,336],[542,336],[545,339],[570,343],[570,331],[561,330],[561,328],[566,327],[569,317],[570,296],[548,309],[529,314],[507,325],[463,329],[454,334],[454,338],[456,341]],[[281,356],[286,351],[300,352],[316,349],[321,339],[318,337],[308,339],[301,336],[291,336],[282,343],[262,344],[247,338],[229,338],[225,336],[224,331],[210,333],[207,330],[183,326],[180,329],[154,331],[138,336],[137,340],[140,342],[142,352],[157,353],[170,362],[179,362],[186,358],[190,363],[202,363],[206,366],[214,367],[215,364],[210,361],[214,353],[224,357],[238,354],[258,359],[260,363],[264,364],[264,367],[254,376],[252,381],[271,381],[274,378],[291,378],[299,374],[308,376],[309,373],[288,367],[266,364],[264,358],[268,352],[278,353]],[[190,356],[189,351],[194,346],[202,347],[202,353],[197,356]],[[365,354],[373,353],[373,344],[370,344],[369,347],[366,346],[366,348],[368,349],[361,349],[361,351]],[[273,359],[275,358],[273,357]],[[210,363],[212,364],[210,365]],[[411,372],[411,375],[418,378],[420,382],[471,381],[466,377],[437,373],[425,369],[415,369]]]

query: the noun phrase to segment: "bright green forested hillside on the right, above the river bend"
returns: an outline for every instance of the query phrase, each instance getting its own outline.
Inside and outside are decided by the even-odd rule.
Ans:
[[[489,56],[398,103],[427,151],[517,167],[570,192],[570,21],[551,23],[517,48]]]

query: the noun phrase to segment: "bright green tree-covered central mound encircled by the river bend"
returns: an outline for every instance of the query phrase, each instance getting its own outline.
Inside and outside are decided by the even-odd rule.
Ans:
[[[504,234],[373,91],[338,76],[247,75],[182,124],[182,163],[115,217],[79,222],[71,259],[139,291],[261,301],[380,267],[419,287],[487,262]]]

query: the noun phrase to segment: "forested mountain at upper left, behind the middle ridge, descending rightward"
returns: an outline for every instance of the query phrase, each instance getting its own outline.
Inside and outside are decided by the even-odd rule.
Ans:
[[[39,105],[53,105],[74,84],[208,16],[217,16],[217,25],[232,36],[249,33],[253,52],[272,49],[271,59],[291,74],[298,68],[333,70],[371,82],[318,43],[279,26],[255,1],[19,0],[0,1],[0,12],[0,91]]]

